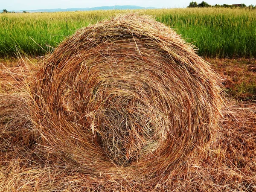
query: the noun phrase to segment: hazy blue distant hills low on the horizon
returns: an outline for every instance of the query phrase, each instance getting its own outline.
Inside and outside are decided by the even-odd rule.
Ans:
[[[140,7],[140,6],[102,6],[102,7],[93,7],[93,8],[69,8],[69,9],[35,9],[35,10],[12,10],[10,12],[72,12],[72,11],[95,11],[95,10],[126,10],[126,9],[157,9],[155,7]],[[9,11],[9,10],[7,10]],[[1,10],[2,12],[2,10]]]

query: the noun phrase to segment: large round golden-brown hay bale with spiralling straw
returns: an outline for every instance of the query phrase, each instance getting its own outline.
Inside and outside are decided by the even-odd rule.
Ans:
[[[148,16],[79,29],[36,78],[32,119],[47,148],[95,182],[168,178],[205,146],[220,116],[218,76]]]

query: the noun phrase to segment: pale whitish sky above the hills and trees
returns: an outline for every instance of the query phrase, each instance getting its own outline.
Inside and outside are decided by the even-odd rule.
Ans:
[[[0,0],[0,10],[67,9],[114,5],[134,5],[156,8],[184,8],[192,0]],[[201,3],[202,0],[196,1]],[[204,0],[210,5],[241,4],[256,5],[256,0]]]

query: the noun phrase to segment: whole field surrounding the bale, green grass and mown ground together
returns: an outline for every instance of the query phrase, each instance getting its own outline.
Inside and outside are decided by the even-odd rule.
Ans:
[[[47,138],[31,119],[28,81],[44,55],[76,29],[124,12],[128,11],[0,14],[0,192],[106,191],[105,186],[142,192],[256,191],[256,12],[251,10],[139,12],[154,15],[198,47],[198,54],[221,76],[224,90],[223,116],[210,142],[193,151],[170,180],[158,183],[145,176],[152,179],[151,186],[137,183],[137,178],[120,184],[112,174],[102,177],[102,172],[102,185],[97,185],[98,177],[74,167],[75,161],[62,151],[46,150]],[[116,183],[121,188],[115,188]]]

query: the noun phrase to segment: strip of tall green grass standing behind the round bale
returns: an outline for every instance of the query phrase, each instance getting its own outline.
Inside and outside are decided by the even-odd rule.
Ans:
[[[0,57],[45,55],[76,29],[131,11],[0,14]],[[132,11],[135,12],[135,11]],[[256,11],[195,8],[136,11],[154,15],[204,57],[256,57]]]

